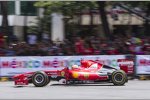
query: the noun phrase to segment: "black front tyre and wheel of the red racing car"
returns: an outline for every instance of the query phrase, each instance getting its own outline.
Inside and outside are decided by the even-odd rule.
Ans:
[[[43,71],[37,71],[32,75],[32,83],[36,87],[46,86],[50,82],[47,74]]]

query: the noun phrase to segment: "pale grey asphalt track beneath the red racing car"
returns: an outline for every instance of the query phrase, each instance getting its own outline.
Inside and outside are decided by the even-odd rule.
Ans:
[[[46,87],[15,87],[13,82],[0,82],[0,99],[150,99],[150,81],[130,80],[125,86],[51,82]]]

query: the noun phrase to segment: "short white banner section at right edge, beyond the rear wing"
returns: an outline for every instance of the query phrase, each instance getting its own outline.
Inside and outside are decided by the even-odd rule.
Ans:
[[[136,74],[150,74],[150,55],[136,56]]]

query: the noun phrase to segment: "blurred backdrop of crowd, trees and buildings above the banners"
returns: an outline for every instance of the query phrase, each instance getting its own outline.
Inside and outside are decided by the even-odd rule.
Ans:
[[[0,56],[149,55],[149,1],[0,1]]]

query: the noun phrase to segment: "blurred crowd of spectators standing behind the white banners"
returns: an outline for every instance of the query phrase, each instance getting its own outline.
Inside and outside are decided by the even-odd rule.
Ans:
[[[0,56],[64,56],[150,54],[150,37],[114,36],[112,40],[96,36],[70,37],[63,42],[51,40],[28,44],[12,42],[2,46]]]

